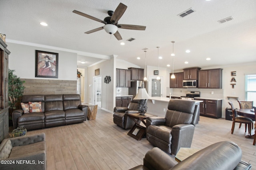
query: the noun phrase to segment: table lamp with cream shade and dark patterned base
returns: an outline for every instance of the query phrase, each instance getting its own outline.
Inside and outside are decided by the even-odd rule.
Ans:
[[[147,112],[148,106],[147,106],[147,99],[150,99],[151,97],[148,95],[146,88],[139,88],[138,93],[135,96],[134,100],[140,100],[138,102],[138,111],[140,115],[145,115]]]

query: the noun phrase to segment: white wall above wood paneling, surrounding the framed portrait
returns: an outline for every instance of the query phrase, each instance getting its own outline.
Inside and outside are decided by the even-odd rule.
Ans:
[[[58,78],[57,80],[76,80],[77,54],[42,47],[7,43],[9,55],[9,68],[15,70],[20,78],[51,79],[35,77],[36,50],[58,53]]]

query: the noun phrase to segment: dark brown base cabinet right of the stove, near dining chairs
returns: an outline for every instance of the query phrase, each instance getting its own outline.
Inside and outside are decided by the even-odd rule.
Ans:
[[[201,100],[200,102],[200,115],[220,118],[222,116],[222,100],[208,100],[208,99],[196,99]]]

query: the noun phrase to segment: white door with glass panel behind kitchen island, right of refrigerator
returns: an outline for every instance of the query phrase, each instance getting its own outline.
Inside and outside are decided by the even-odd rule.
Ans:
[[[148,94],[151,97],[163,96],[163,77],[160,80],[156,80],[156,76],[150,76],[148,80]]]

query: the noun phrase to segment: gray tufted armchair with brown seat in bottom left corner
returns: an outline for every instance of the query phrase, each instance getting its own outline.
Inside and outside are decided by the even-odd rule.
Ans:
[[[0,160],[11,162],[0,164],[0,170],[46,170],[45,134],[4,139],[0,145]]]

